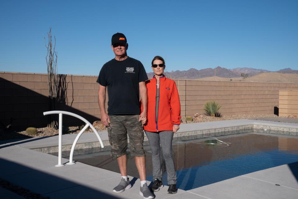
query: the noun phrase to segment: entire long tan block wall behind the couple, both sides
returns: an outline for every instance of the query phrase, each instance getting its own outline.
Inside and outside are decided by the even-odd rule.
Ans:
[[[77,113],[91,123],[100,118],[97,76],[59,75],[57,110]],[[222,115],[274,113],[279,104],[297,105],[297,95],[288,100],[279,90],[298,90],[298,84],[174,80],[180,97],[181,116],[203,114],[204,104],[215,100]],[[47,74],[0,72],[0,121],[3,125],[25,128],[47,124]],[[106,96],[106,109],[108,97]],[[284,102],[287,101],[287,102]],[[296,104],[295,104],[296,103]],[[293,106],[294,108],[296,106]],[[293,112],[294,113],[294,112]],[[80,122],[63,117],[63,123]]]

